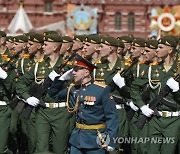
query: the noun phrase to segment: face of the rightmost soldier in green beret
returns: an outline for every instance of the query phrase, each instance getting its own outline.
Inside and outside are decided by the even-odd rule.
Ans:
[[[171,50],[172,50],[172,47],[169,47],[164,44],[158,44],[157,57],[165,59],[168,56],[168,54],[171,52]]]

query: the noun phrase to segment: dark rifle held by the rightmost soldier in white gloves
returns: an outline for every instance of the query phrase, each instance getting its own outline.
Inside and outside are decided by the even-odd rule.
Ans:
[[[176,75],[175,76],[175,80],[178,80],[180,78],[180,75]],[[171,89],[169,88],[168,85],[166,85],[159,93],[159,95],[157,95],[150,103],[149,103],[149,108],[152,110],[156,110],[156,107],[161,103],[161,101],[163,100],[164,96],[166,96],[169,92],[171,91]],[[158,111],[157,111],[158,114]],[[136,126],[137,128],[139,128],[140,130],[144,127],[146,120],[148,119],[148,117],[146,117],[145,115],[142,115],[142,117],[140,119],[138,119]]]

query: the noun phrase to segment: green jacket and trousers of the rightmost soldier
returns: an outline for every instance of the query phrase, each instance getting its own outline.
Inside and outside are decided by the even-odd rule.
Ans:
[[[159,90],[166,86],[166,82],[169,78],[175,77],[177,73],[179,73],[179,63],[176,59],[171,68],[166,72],[164,65],[159,66],[158,69],[158,79],[159,86],[155,89],[151,89],[151,100],[159,94]],[[149,121],[149,130],[148,134],[150,138],[169,138],[171,143],[168,141],[162,143],[150,143],[148,153],[175,153],[176,146],[178,145],[179,140],[179,129],[180,129],[180,92],[170,92],[167,96],[165,96],[158,105],[157,110],[159,112],[160,117],[153,116]],[[163,104],[163,101],[167,103],[172,103],[176,105],[176,109],[173,109],[167,105]]]

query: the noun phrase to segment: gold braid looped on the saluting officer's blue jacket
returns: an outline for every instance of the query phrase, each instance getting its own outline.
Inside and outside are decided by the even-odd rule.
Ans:
[[[70,94],[71,88],[72,88],[73,86],[74,86],[74,84],[70,84],[70,86],[69,86],[69,88],[68,88],[68,92],[67,92],[67,99],[66,99],[67,110],[68,110],[68,112],[70,112],[70,113],[73,113],[73,112],[76,112],[76,111],[77,111],[77,109],[78,109],[78,107],[79,107],[79,101],[80,101],[80,97],[77,96],[76,104],[75,104],[74,108],[73,108],[73,107],[71,108],[71,107],[69,106],[69,94]]]

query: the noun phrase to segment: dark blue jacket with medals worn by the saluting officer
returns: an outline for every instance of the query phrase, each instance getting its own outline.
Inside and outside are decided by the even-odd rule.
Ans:
[[[64,81],[56,78],[48,91],[49,95],[56,100],[66,98],[68,88],[62,89],[63,84]],[[102,87],[97,82],[89,82],[84,86],[72,86],[67,103],[74,107],[79,98],[78,109],[75,112],[76,122],[86,125],[106,123],[106,127],[99,131],[108,132],[109,145],[115,147],[113,137],[116,137],[118,132],[118,114],[115,102],[110,99],[110,91],[110,87]],[[96,138],[97,130],[75,128],[71,134],[70,143],[77,148],[98,148]]]

